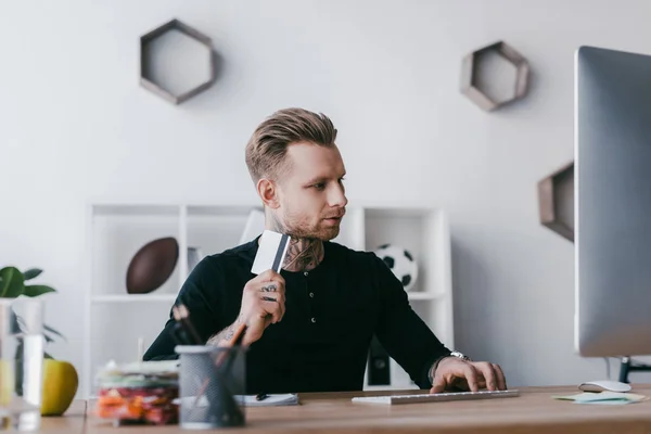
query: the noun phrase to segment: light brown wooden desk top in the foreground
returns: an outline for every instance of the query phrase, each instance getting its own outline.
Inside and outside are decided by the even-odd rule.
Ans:
[[[651,400],[625,406],[579,405],[552,399],[572,387],[522,387],[520,397],[474,401],[371,406],[353,396],[385,392],[302,394],[301,406],[247,408],[247,426],[229,433],[640,433],[651,432]],[[404,393],[413,393],[406,391]],[[651,397],[650,385],[634,392]],[[396,393],[394,391],[394,393]],[[89,403],[91,410],[94,403]],[[178,425],[115,429],[89,413],[86,433],[188,433]],[[224,430],[215,430],[226,432]],[[201,432],[201,431],[199,431]],[[204,431],[205,432],[205,431]]]

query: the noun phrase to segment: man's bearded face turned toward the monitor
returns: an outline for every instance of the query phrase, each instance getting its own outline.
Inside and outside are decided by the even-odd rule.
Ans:
[[[288,146],[288,169],[278,181],[280,207],[276,216],[296,238],[332,240],[348,200],[343,178],[344,162],[336,146],[293,143]]]

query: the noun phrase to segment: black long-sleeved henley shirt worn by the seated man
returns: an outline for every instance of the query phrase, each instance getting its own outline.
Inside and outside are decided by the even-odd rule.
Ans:
[[[401,283],[373,253],[323,245],[314,270],[281,270],[285,314],[248,348],[247,393],[360,391],[373,334],[419,387],[429,388],[429,369],[450,352],[411,309]],[[204,342],[238,317],[257,247],[256,239],[205,257],[181,288],[177,303],[188,307]],[[170,315],[145,360],[177,357],[173,323]]]

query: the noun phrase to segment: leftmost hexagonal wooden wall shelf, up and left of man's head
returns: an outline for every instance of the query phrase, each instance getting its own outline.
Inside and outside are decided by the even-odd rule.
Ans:
[[[164,36],[169,36],[170,33],[178,31],[181,34],[183,39],[189,39],[194,46],[199,44],[201,51],[205,51],[205,75],[201,77],[194,77],[194,81],[189,86],[189,89],[171,89],[169,85],[164,85],[161,79],[164,76],[164,72],[154,71],[156,42],[159,41]],[[203,55],[200,53],[199,55]],[[202,61],[203,62],[203,61]],[[159,66],[159,65],[158,65]],[[179,65],[175,65],[178,67]],[[184,72],[189,75],[190,73],[196,73],[196,65],[184,64],[180,65],[184,67]],[[203,74],[204,72],[202,72]],[[196,75],[196,74],[193,74]],[[213,50],[213,42],[210,38],[203,35],[199,30],[181,23],[178,20],[173,20],[152,31],[143,35],[140,38],[140,84],[145,89],[154,92],[158,97],[171,102],[173,104],[180,104],[183,101],[196,95],[197,93],[208,89],[215,82],[217,78],[217,58]]]

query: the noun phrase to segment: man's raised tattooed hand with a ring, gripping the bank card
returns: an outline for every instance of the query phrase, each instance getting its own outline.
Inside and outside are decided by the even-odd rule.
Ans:
[[[240,315],[235,322],[208,340],[208,344],[227,345],[238,327],[246,324],[242,345],[259,340],[269,324],[284,316],[284,279],[273,270],[259,273],[246,282],[242,293]]]

